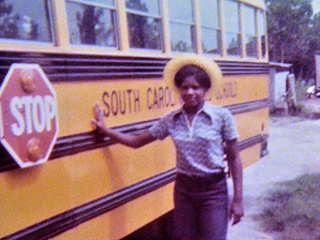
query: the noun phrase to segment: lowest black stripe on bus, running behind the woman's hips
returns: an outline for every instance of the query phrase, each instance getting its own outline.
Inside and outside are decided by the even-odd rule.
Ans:
[[[241,151],[264,141],[262,135],[256,135],[239,143]],[[106,195],[89,203],[83,204],[64,213],[29,226],[0,240],[45,240],[68,231],[81,223],[101,216],[138,197],[146,195],[174,181],[176,170],[171,169],[159,175],[138,182]]]

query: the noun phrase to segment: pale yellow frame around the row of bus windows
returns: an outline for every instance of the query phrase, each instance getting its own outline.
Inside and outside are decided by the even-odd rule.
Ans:
[[[227,20],[227,17],[224,16],[225,13],[225,2],[226,0],[217,0],[218,3],[218,13],[219,13],[219,25],[220,29],[220,54],[216,53],[206,53],[203,52],[202,45],[200,42],[202,42],[202,24],[201,19],[199,19],[199,8],[200,3],[199,1],[191,0],[190,3],[192,4],[192,11],[191,15],[193,18],[192,23],[186,22],[186,21],[179,21],[174,20],[170,18],[169,14],[169,1],[168,0],[159,0],[159,7],[157,9],[157,12],[159,12],[158,15],[154,15],[151,13],[146,13],[142,11],[137,11],[133,9],[127,9],[124,6],[123,0],[114,0],[114,6],[110,4],[99,4],[95,3],[93,4],[90,1],[90,4],[97,7],[106,7],[107,10],[110,10],[113,12],[114,15],[114,34],[115,34],[115,41],[116,46],[105,46],[105,45],[91,45],[91,44],[72,44],[69,37],[69,27],[68,27],[68,19],[67,19],[67,12],[61,14],[57,13],[57,9],[66,10],[66,7],[64,8],[64,4],[67,4],[68,2],[74,2],[74,3],[88,3],[89,1],[86,0],[47,0],[48,3],[48,15],[50,17],[50,31],[53,38],[53,41],[51,42],[41,42],[41,41],[28,41],[28,40],[17,40],[17,39],[6,39],[1,38],[0,42],[5,43],[2,47],[3,50],[10,49],[14,50],[16,49],[17,45],[19,46],[19,49],[26,50],[30,52],[72,52],[72,53],[80,53],[80,54],[96,54],[96,55],[103,55],[103,54],[113,54],[113,55],[134,55],[141,54],[142,56],[146,57],[148,56],[148,53],[150,56],[154,57],[170,57],[174,56],[176,54],[184,54],[184,53],[192,53],[192,54],[204,54],[208,57],[213,57],[214,59],[226,59],[231,61],[242,61],[242,60],[248,60],[248,61],[267,61],[268,60],[268,39],[267,39],[267,30],[266,30],[266,9],[264,6],[260,6],[261,3],[255,4],[253,1],[246,1],[246,0],[228,0],[231,2],[234,2],[237,4],[239,8],[239,21],[240,21],[240,32],[237,32],[238,38],[242,40],[241,45],[239,46],[238,52],[241,50],[241,55],[238,53],[237,55],[230,55],[227,54],[227,40],[226,35],[229,31],[226,31],[225,22]],[[59,4],[59,5],[58,5]],[[197,5],[196,5],[197,4]],[[57,7],[63,6],[62,8]],[[244,39],[244,30],[243,30],[243,20],[242,20],[242,6],[246,5],[248,7],[252,7],[256,12],[256,27],[257,27],[257,43],[256,43],[256,49],[257,56],[250,57],[247,56],[245,53],[246,51],[243,51],[245,44],[243,43]],[[164,8],[166,6],[166,9]],[[121,8],[121,9],[120,9]],[[198,10],[197,10],[198,9]],[[151,11],[156,12],[156,11]],[[156,20],[160,21],[160,27],[159,30],[160,36],[160,42],[161,42],[161,49],[148,49],[148,48],[135,48],[129,46],[129,33],[126,33],[128,31],[127,26],[127,18],[123,16],[127,16],[127,14],[134,14],[138,13],[141,16],[144,17],[153,17]],[[66,19],[64,20],[64,15],[66,16]],[[59,17],[59,19],[58,19]],[[62,20],[61,20],[62,17]],[[124,22],[125,21],[125,22]],[[63,26],[63,23],[66,22],[65,26]],[[263,23],[264,22],[264,23]],[[171,48],[171,23],[177,23],[177,24],[183,24],[183,26],[186,26],[188,28],[191,27],[191,40],[192,40],[192,50],[189,51],[179,51],[179,50],[172,50]],[[122,26],[121,26],[122,25]],[[206,24],[205,24],[206,25]],[[261,31],[261,29],[264,28],[264,31]],[[63,31],[61,31],[61,29]],[[262,35],[264,32],[265,35]],[[262,37],[265,37],[264,41],[262,41]],[[62,41],[61,41],[62,39]],[[22,44],[21,44],[22,43]],[[264,43],[264,49],[263,45]],[[34,47],[33,47],[34,46]],[[244,49],[245,50],[245,49]],[[263,52],[265,53],[263,55]]]

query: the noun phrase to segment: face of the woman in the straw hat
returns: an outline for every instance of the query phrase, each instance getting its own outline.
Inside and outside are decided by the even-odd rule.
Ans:
[[[207,89],[200,86],[194,76],[186,77],[179,88],[184,106],[197,108],[202,105]]]

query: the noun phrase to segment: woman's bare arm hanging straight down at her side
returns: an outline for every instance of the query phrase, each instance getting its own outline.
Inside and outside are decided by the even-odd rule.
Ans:
[[[233,217],[233,225],[241,221],[244,216],[243,210],[243,173],[242,164],[239,157],[238,140],[233,139],[226,142],[226,153],[228,165],[233,180],[233,201],[230,205],[230,217]]]

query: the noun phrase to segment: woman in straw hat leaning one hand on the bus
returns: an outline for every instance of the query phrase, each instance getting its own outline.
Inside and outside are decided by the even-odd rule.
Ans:
[[[99,105],[94,106],[95,120],[92,123],[102,134],[133,148],[170,135],[177,157],[174,188],[176,236],[181,240],[226,240],[228,216],[236,224],[244,213],[242,166],[234,119],[226,108],[212,106],[205,100],[218,89],[220,69],[213,61],[182,56],[167,64],[164,78],[168,84],[174,84],[183,106],[162,117],[149,130],[129,135],[107,128]],[[234,186],[230,208],[226,165]]]

